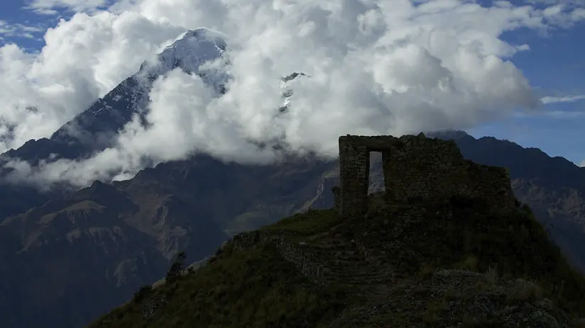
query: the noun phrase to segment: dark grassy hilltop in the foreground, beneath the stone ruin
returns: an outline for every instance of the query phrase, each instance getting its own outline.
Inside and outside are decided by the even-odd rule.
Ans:
[[[583,327],[585,278],[530,209],[449,198],[310,210],[89,327]]]

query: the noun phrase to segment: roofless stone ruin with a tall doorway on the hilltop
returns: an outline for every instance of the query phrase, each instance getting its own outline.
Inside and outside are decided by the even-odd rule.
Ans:
[[[339,178],[333,188],[340,215],[363,215],[368,208],[370,152],[382,153],[386,198],[395,203],[437,196],[481,198],[488,205],[513,207],[507,169],[464,159],[454,140],[420,135],[339,137]]]

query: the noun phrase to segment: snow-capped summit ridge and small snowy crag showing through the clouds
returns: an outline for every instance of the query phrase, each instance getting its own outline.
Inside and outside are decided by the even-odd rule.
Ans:
[[[146,113],[148,94],[153,82],[159,77],[180,68],[188,74],[199,75],[220,96],[226,92],[226,84],[230,79],[226,69],[229,64],[229,46],[225,35],[207,28],[188,30],[155,55],[153,60],[143,62],[136,74],[65,123],[49,139],[31,140],[6,155],[31,163],[88,157],[110,147],[119,130],[132,120],[133,115],[138,113],[143,116]],[[300,77],[307,75],[295,72],[280,79],[283,105],[275,108],[276,115],[288,111],[291,86]]]

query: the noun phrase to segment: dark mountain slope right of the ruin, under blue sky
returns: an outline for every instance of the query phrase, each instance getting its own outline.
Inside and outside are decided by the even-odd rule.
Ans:
[[[467,159],[510,170],[516,197],[530,205],[555,242],[585,271],[585,170],[507,140],[458,136],[455,141]]]

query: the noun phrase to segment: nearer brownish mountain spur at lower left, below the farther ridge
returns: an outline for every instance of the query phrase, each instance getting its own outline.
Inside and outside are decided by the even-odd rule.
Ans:
[[[155,281],[182,249],[200,259],[227,239],[171,195],[95,182],[0,224],[3,327],[82,327]],[[34,315],[31,315],[33,313]]]

